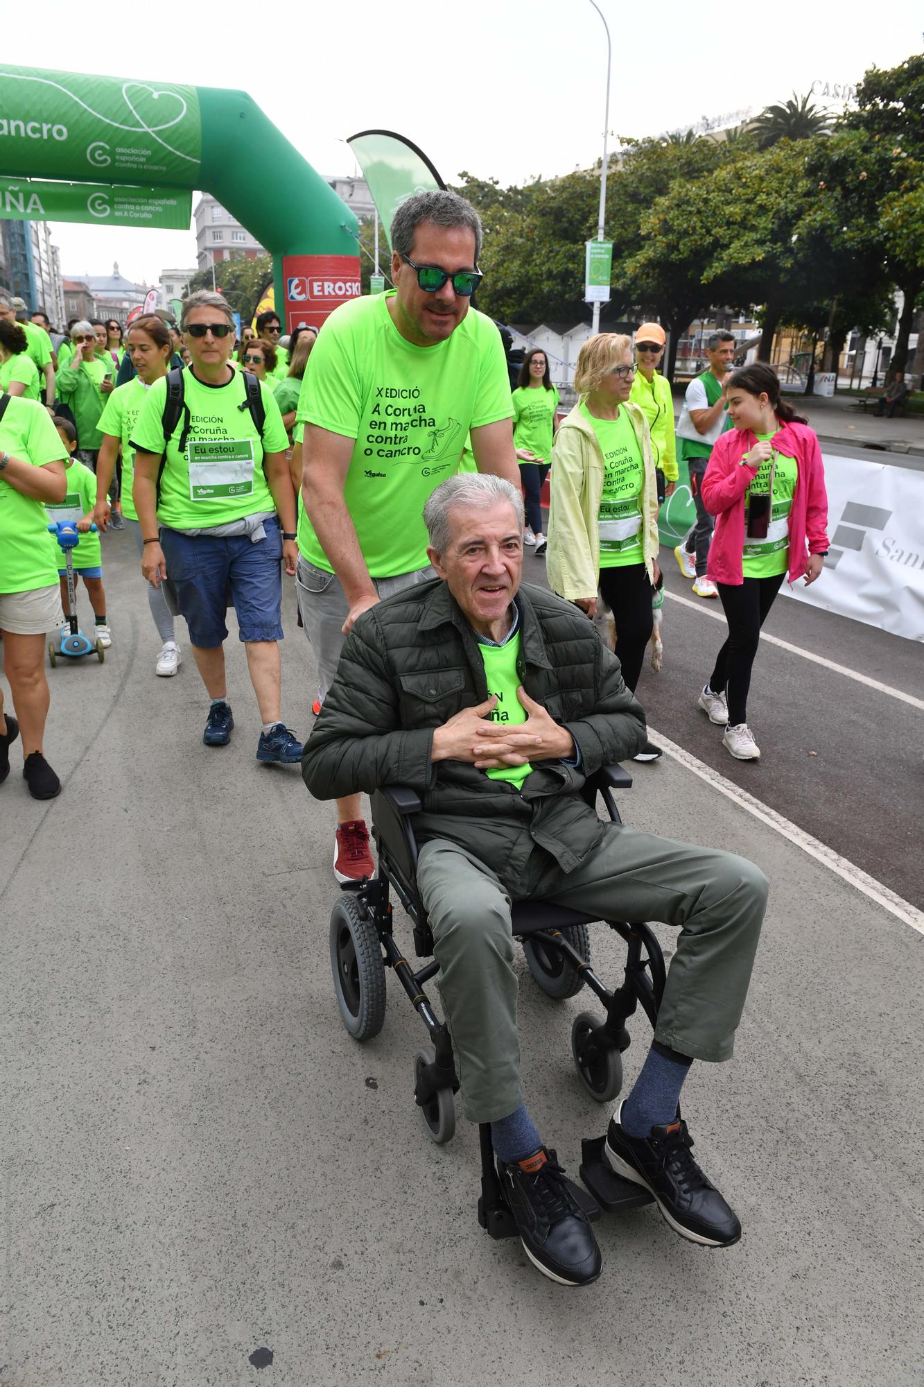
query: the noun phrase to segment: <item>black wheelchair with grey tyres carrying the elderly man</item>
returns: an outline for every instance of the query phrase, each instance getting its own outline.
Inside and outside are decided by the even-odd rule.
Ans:
[[[622,818],[613,791],[631,788],[633,778],[622,766],[604,766],[581,789],[591,807],[597,796],[612,822]],[[330,967],[337,1007],[354,1040],[379,1035],[386,1015],[386,968],[411,999],[427,1031],[427,1043],[413,1057],[413,1100],[423,1129],[431,1142],[443,1144],[455,1135],[455,1072],[452,1043],[445,1024],[434,1013],[425,992],[438,972],[433,958],[433,933],[416,889],[418,845],[413,816],[420,799],[405,785],[388,785],[372,795],[372,836],[379,871],[370,881],[347,882],[330,915]],[[398,897],[413,925],[418,958],[429,958],[415,970],[394,940],[390,892]],[[581,1011],[572,1025],[572,1056],[577,1076],[592,1099],[612,1103],[623,1083],[623,1050],[630,1036],[626,1021],[640,1004],[652,1029],[665,990],[665,958],[648,925],[605,921],[627,946],[622,986],[610,990],[591,965],[588,925],[595,917],[566,906],[541,900],[517,900],[512,906],[513,936],[526,954],[530,974],[542,992],[554,999],[574,997],[588,988],[601,1001],[605,1015]],[[494,1165],[490,1123],[479,1126],[481,1150],[481,1197],[479,1222],[494,1239],[516,1236],[513,1218],[504,1201]],[[604,1137],[581,1142],[580,1178],[572,1194],[590,1219],[601,1211],[649,1204],[652,1196],[638,1184],[615,1175],[604,1157]],[[549,1153],[555,1160],[555,1153]]]

